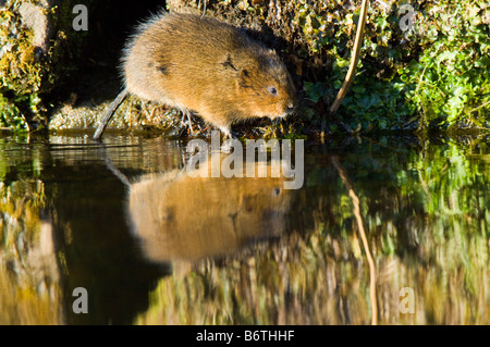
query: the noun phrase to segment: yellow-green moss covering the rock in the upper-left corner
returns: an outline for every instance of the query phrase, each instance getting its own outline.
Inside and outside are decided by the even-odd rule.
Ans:
[[[20,5],[9,1],[0,11],[0,126],[36,129],[48,123],[42,100],[77,69],[76,57],[83,49],[85,33],[72,29],[72,8],[77,1],[62,1],[44,10],[54,33],[46,51],[34,46],[34,33],[22,23]],[[66,33],[70,33],[66,35]],[[76,33],[76,34],[73,34]],[[66,63],[72,62],[72,63]]]

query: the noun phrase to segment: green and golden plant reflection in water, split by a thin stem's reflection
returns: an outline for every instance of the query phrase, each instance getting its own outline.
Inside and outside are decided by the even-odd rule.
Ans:
[[[490,321],[488,150],[478,139],[422,150],[381,140],[342,156],[378,269],[380,324]],[[368,324],[369,270],[352,202],[329,161],[311,160],[296,202],[305,230],[249,257],[175,270],[136,322]],[[414,314],[399,310],[403,287],[414,289]]]

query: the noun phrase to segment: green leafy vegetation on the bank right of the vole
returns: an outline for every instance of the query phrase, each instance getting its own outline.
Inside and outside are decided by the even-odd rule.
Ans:
[[[339,116],[363,129],[411,128],[418,116],[421,131],[489,129],[489,4],[426,1],[403,12],[402,4],[389,3],[368,14],[364,57]],[[407,16],[412,26],[402,30]],[[314,46],[334,62],[326,82],[305,83],[314,101],[330,104],[343,80],[348,55],[342,41],[351,22],[344,18],[333,35],[317,29]]]

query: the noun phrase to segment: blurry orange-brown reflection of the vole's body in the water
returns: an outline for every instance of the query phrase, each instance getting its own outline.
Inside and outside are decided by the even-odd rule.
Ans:
[[[131,185],[128,214],[151,261],[220,257],[284,233],[292,191],[283,182],[148,175]]]

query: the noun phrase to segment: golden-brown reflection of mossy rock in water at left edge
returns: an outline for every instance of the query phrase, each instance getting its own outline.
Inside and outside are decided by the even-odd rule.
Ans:
[[[1,324],[61,322],[59,273],[40,181],[0,182]]]

